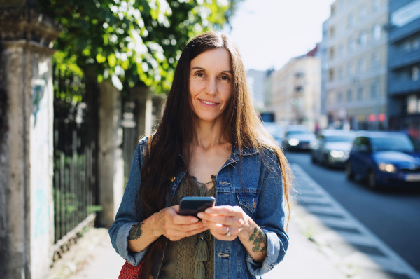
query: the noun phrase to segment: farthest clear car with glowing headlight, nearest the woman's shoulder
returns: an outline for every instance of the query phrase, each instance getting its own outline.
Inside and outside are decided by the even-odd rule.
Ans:
[[[315,139],[313,132],[308,132],[304,125],[290,125],[286,128],[283,140],[283,149],[309,150],[309,143]]]

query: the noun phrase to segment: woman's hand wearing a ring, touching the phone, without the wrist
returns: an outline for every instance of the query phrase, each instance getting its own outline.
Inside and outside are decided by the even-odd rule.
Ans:
[[[255,226],[253,219],[246,215],[239,206],[214,206],[198,217],[209,227],[211,234],[218,240],[235,240],[235,238],[249,238],[250,229]]]

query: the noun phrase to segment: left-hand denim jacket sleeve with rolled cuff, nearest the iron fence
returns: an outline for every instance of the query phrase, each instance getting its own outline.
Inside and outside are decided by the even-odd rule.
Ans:
[[[140,222],[136,215],[136,195],[141,183],[141,167],[144,161],[143,151],[146,146],[147,140],[141,140],[137,146],[123,200],[118,208],[116,220],[109,229],[109,236],[114,249],[133,266],[137,266],[147,252],[147,249],[138,253],[129,252],[127,240],[132,226]]]

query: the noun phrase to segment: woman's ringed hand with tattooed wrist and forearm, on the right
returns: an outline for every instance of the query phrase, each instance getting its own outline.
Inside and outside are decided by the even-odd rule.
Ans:
[[[200,212],[198,217],[218,240],[232,241],[239,238],[255,261],[262,262],[265,259],[267,236],[241,207],[214,206]]]

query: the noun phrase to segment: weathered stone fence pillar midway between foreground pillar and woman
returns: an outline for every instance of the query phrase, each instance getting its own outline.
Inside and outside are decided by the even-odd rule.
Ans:
[[[111,82],[104,81],[99,88],[98,176],[99,224],[110,227],[113,223],[124,189],[124,162],[121,144],[121,96]]]

